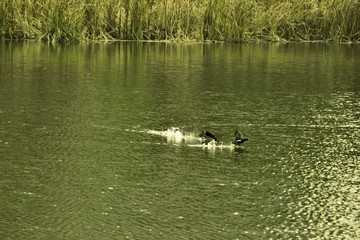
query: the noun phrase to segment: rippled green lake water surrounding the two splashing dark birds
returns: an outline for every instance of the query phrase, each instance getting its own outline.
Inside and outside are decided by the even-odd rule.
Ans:
[[[359,66],[357,45],[1,42],[0,238],[360,238]]]

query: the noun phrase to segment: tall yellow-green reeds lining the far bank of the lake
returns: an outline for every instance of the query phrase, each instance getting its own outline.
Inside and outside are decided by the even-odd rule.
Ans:
[[[360,0],[3,0],[0,38],[360,42]]]

